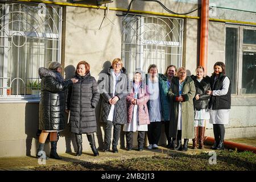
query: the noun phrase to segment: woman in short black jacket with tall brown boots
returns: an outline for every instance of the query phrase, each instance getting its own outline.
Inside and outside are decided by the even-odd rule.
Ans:
[[[205,122],[210,119],[208,108],[210,96],[206,93],[207,90],[210,90],[210,77],[204,77],[204,67],[198,66],[196,68],[196,76],[192,75],[191,78],[196,86],[196,96],[193,98],[195,109],[195,138],[193,138],[192,148],[197,148],[197,140],[199,139],[199,148],[204,149]]]

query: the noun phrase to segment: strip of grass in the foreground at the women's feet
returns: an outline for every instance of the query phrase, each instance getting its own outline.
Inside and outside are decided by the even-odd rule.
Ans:
[[[127,170],[127,171],[255,171],[256,154],[238,151],[210,151],[189,155],[179,152],[172,155],[160,154],[126,160],[110,160],[105,163],[73,163],[55,166],[40,166],[35,170]],[[212,152],[216,152],[215,154]],[[213,155],[214,154],[214,155]],[[216,164],[213,162],[216,156]],[[209,162],[210,161],[210,162]]]

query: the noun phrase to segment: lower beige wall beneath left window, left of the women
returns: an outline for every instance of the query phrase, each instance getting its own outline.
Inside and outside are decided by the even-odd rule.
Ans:
[[[30,139],[38,130],[38,104],[0,104],[0,156],[30,152]]]

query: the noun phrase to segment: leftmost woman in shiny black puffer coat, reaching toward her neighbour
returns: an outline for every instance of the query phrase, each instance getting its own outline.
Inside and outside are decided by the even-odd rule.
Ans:
[[[49,68],[39,68],[41,80],[41,99],[39,104],[39,136],[38,158],[48,159],[44,150],[44,143],[50,133],[51,153],[50,158],[61,159],[57,154],[57,132],[64,130],[65,93],[64,90],[72,83],[77,82],[75,78],[64,81],[61,76],[61,64],[52,62]]]

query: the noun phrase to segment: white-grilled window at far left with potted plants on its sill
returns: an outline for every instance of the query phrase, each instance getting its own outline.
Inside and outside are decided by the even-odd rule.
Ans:
[[[40,97],[39,67],[60,61],[61,7],[0,4],[0,102]]]

